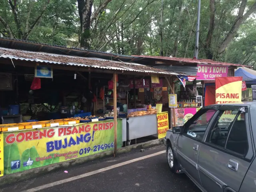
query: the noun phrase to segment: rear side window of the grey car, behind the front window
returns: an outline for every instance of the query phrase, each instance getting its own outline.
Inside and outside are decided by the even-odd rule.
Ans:
[[[248,138],[244,112],[220,111],[206,142],[245,155],[248,151]]]

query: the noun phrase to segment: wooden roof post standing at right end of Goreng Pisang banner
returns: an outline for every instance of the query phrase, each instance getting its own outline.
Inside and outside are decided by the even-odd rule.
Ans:
[[[116,114],[116,73],[113,76],[114,88],[114,157],[117,155],[117,114]]]

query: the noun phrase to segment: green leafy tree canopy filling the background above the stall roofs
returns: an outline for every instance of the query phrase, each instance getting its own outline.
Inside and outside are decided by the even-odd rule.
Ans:
[[[198,0],[2,0],[0,35],[192,58]],[[254,66],[256,0],[201,0],[199,56]]]

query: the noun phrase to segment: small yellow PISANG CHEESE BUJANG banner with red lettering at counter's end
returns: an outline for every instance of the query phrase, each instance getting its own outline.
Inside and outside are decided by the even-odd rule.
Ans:
[[[168,112],[158,113],[156,116],[158,139],[164,138],[166,136],[167,130],[169,129]]]

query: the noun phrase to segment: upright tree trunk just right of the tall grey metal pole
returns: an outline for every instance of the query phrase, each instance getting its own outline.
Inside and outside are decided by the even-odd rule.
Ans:
[[[210,26],[209,26],[208,34],[206,37],[206,44],[204,47],[206,56],[208,59],[212,59],[213,57],[211,46],[212,46],[212,35],[215,27],[215,14],[216,14],[215,0],[210,0]]]

